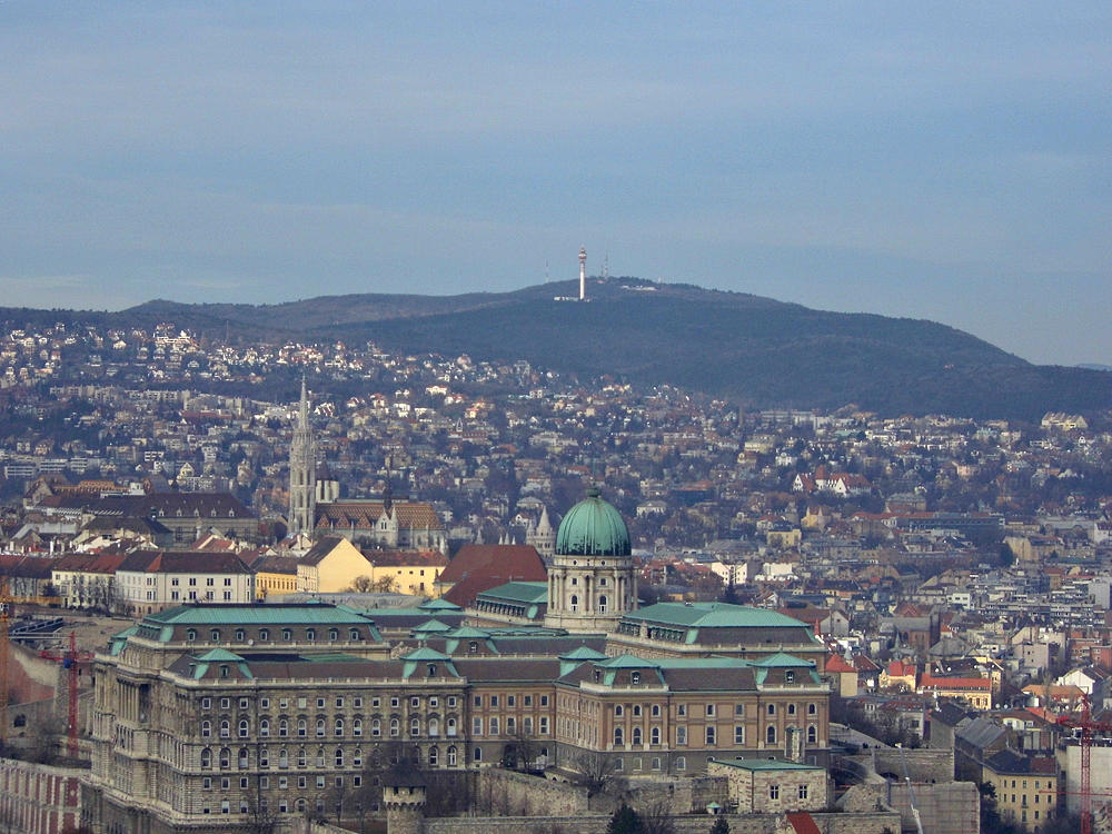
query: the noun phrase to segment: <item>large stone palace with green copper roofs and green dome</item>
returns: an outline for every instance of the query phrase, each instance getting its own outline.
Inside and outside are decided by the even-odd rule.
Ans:
[[[281,831],[366,788],[383,751],[427,771],[826,765],[824,653],[805,624],[723,604],[638,609],[628,533],[596,493],[565,516],[555,549],[547,582],[492,588],[467,610],[435,599],[148,615],[93,664],[85,822],[215,833],[274,815]]]

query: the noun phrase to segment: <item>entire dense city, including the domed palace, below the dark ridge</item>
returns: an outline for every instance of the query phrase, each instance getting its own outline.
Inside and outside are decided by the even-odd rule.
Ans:
[[[0,363],[16,830],[1066,831],[1106,790],[1109,413],[757,410],[173,322]]]

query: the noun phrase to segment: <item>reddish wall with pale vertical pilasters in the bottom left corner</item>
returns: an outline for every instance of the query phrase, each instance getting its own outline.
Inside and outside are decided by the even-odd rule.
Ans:
[[[13,834],[60,834],[76,828],[83,773],[0,758],[0,826]]]

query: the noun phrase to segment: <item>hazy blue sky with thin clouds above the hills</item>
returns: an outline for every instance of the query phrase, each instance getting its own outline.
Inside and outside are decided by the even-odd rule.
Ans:
[[[587,267],[1112,365],[1112,6],[0,0],[3,306]]]

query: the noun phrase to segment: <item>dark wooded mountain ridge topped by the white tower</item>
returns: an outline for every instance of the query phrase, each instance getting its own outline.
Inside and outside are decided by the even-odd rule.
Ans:
[[[1112,407],[1112,375],[1036,366],[924,319],[814,310],[743,292],[637,278],[589,279],[586,304],[557,301],[577,281],[458,296],[366,294],[276,305],[149,301],[97,316],[170,320],[214,336],[375,341],[406,353],[527,359],[579,375],[671,384],[758,407],[1037,419]],[[3,310],[0,318],[61,311]]]

